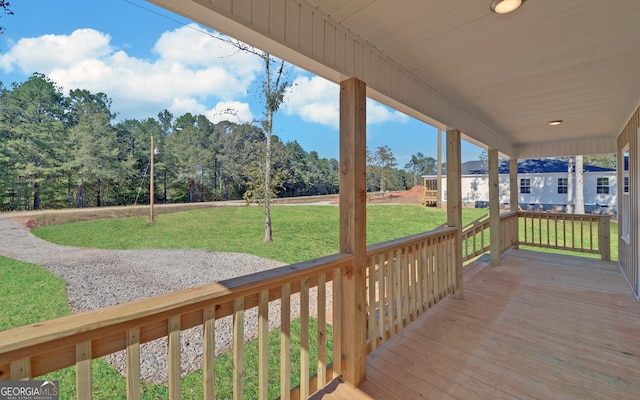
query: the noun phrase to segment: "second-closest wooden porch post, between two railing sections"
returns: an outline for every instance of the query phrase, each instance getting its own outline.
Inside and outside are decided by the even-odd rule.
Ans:
[[[462,299],[462,165],[460,131],[447,130],[447,225],[458,228],[453,265],[456,268],[456,299]]]

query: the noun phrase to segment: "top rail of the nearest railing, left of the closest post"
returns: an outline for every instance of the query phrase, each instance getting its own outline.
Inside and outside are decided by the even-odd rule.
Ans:
[[[351,254],[338,253],[297,264],[285,265],[221,282],[210,283],[130,303],[86,311],[0,332],[0,365],[7,353],[61,338],[104,330],[105,334],[139,326],[150,319],[197,310],[205,305],[280,287],[316,276],[353,262]]]

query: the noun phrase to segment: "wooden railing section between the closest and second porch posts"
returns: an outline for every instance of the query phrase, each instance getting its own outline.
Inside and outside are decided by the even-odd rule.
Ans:
[[[456,290],[456,234],[439,228],[367,248],[369,352]]]

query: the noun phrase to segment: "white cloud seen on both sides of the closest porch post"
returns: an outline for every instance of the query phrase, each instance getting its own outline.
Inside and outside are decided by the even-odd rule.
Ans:
[[[300,76],[287,90],[283,110],[307,122],[338,128],[340,124],[340,88],[318,76]],[[408,117],[367,99],[367,124],[406,123]]]

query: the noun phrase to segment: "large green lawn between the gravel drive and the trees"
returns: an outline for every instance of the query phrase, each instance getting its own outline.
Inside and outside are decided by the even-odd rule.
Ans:
[[[465,209],[465,223],[486,210]],[[104,249],[202,249],[254,254],[295,263],[339,249],[339,209],[332,206],[272,207],[274,241],[262,243],[264,215],[259,207],[225,207],[146,218],[107,219],[34,229],[45,240]],[[419,206],[367,207],[367,243],[379,243],[431,230],[446,221],[442,209]]]

